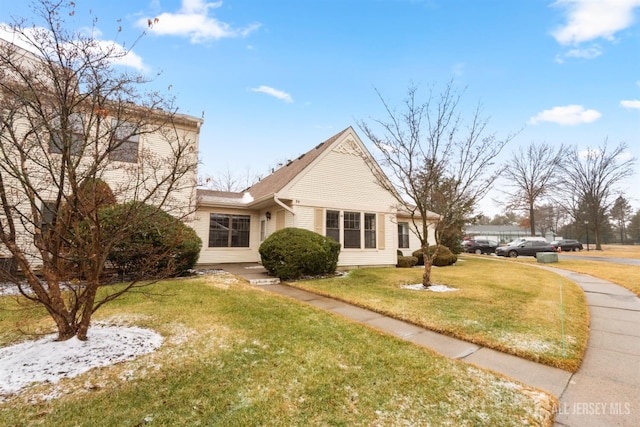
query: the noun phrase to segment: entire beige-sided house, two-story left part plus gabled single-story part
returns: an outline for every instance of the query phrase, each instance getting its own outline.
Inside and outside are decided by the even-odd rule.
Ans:
[[[0,100],[11,101],[14,89],[25,84],[20,82],[20,76],[29,74],[21,71],[37,70],[42,59],[7,42],[0,43],[0,54],[11,58],[3,61],[5,66],[0,72],[12,76],[0,84]],[[7,64],[15,64],[15,69]],[[67,79],[76,90],[81,86],[63,68],[52,66],[43,70],[54,75],[62,73],[56,77]],[[34,96],[48,90],[45,85]],[[351,127],[243,192],[210,191],[196,189],[201,119],[144,109],[128,102],[104,104],[99,97],[87,98],[79,92],[70,95],[84,99],[82,107],[64,116],[64,123],[60,114],[43,116],[37,132],[33,132],[33,122],[26,115],[0,116],[3,124],[0,141],[3,147],[13,147],[15,151],[9,153],[6,163],[23,168],[0,168],[3,178],[0,182],[7,188],[20,189],[7,192],[7,206],[14,206],[22,218],[21,228],[4,235],[3,240],[11,243],[15,234],[22,252],[32,254],[33,259],[39,257],[34,246],[38,230],[51,222],[47,216],[59,210],[68,193],[68,188],[51,186],[46,179],[35,182],[34,177],[47,177],[46,167],[55,170],[63,147],[70,153],[69,158],[81,160],[77,164],[73,160],[76,169],[72,176],[78,175],[75,170],[80,176],[86,170],[92,171],[91,176],[110,185],[119,202],[144,200],[162,205],[169,213],[187,220],[203,241],[200,264],[259,262],[260,244],[285,227],[308,229],[340,242],[340,268],[393,266],[398,250],[409,255],[421,246],[412,231],[413,219],[399,211],[396,197],[379,185],[377,177],[386,177]],[[50,106],[54,113],[59,107],[55,103]],[[23,110],[6,109],[20,113]],[[31,150],[33,157],[20,163],[23,135],[33,139],[32,145],[39,151]],[[168,159],[176,153],[181,158],[172,165]],[[108,159],[104,158],[107,154]],[[42,159],[48,161],[44,169]],[[29,180],[22,179],[27,175]],[[33,203],[23,197],[29,189],[21,188],[31,182],[41,191]],[[429,215],[425,220],[433,222],[437,215]],[[433,227],[428,240],[435,241]],[[0,245],[0,257],[8,255],[6,249]]]

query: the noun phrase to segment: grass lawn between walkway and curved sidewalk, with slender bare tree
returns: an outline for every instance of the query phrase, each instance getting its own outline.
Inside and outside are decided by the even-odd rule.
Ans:
[[[292,285],[551,366],[580,366],[589,313],[574,283],[526,264],[469,256],[433,269],[433,282],[455,292],[403,288],[421,275],[421,268],[362,269]]]

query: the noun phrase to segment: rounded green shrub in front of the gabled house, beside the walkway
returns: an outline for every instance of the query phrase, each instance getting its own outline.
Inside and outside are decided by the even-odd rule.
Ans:
[[[283,280],[332,274],[338,265],[340,243],[301,228],[284,228],[260,245],[262,265]]]

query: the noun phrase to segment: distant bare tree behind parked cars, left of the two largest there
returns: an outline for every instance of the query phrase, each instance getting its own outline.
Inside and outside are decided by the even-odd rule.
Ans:
[[[514,152],[505,167],[504,178],[507,205],[529,215],[532,236],[536,235],[536,203],[550,196],[562,182],[562,165],[570,149],[560,145],[554,149],[547,143],[530,143],[526,149]]]

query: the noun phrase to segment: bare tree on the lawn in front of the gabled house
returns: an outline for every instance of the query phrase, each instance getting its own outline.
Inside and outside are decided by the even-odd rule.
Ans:
[[[485,134],[488,119],[477,105],[469,122],[460,117],[461,92],[449,82],[436,95],[433,88],[424,103],[418,88],[410,85],[401,111],[393,109],[376,90],[386,111],[385,119],[360,121],[360,129],[373,142],[379,163],[387,172],[378,173],[378,184],[394,195],[398,208],[409,212],[425,259],[423,285],[431,285],[429,219],[439,215],[438,230],[457,224],[469,215],[489,191],[496,173],[489,173],[495,157],[515,135],[499,139]],[[371,168],[374,172],[375,168]]]

